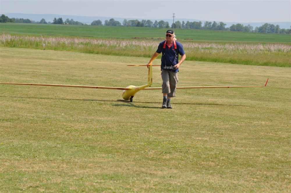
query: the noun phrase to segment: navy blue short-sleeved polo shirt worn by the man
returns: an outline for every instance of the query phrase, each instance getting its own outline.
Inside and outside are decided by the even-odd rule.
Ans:
[[[179,63],[179,54],[182,56],[185,54],[183,46],[180,42],[176,41],[176,47],[177,49],[175,49],[174,44],[172,44],[172,46],[169,48],[168,45],[166,45],[165,48],[164,44],[165,44],[166,40],[161,42],[159,44],[159,47],[157,49],[157,53],[161,53],[164,50],[164,54],[162,55],[162,59],[161,59],[161,70],[163,69],[164,66],[175,66],[176,64]],[[177,55],[175,57],[175,55]],[[179,72],[179,69],[175,69],[172,70],[172,72]]]

